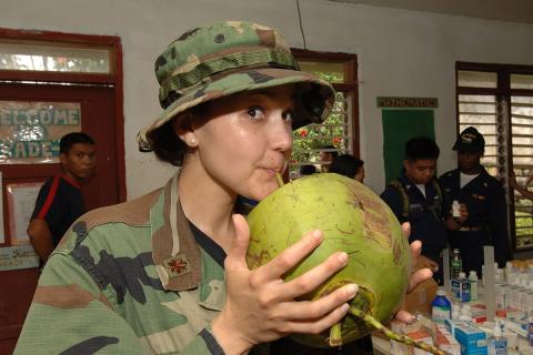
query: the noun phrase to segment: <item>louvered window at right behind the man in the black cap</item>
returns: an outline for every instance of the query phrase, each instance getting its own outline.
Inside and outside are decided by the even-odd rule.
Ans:
[[[482,163],[506,191],[512,246],[532,248],[533,203],[510,194],[509,176],[524,184],[533,173],[533,67],[459,62],[456,79],[459,131],[485,136]]]

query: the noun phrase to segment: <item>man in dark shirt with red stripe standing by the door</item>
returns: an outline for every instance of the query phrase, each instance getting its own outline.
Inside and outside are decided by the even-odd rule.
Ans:
[[[42,262],[47,262],[69,226],[86,212],[81,183],[95,166],[94,141],[74,132],[61,138],[60,174],[48,179],[39,191],[28,235]]]

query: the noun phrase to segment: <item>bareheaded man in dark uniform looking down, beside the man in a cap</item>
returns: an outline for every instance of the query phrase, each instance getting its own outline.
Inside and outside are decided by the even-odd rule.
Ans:
[[[420,267],[433,270],[433,277],[442,283],[441,252],[446,246],[446,227],[442,219],[442,193],[433,178],[440,150],[426,136],[405,143],[402,174],[381,194],[401,223],[411,224],[409,242],[422,242]]]

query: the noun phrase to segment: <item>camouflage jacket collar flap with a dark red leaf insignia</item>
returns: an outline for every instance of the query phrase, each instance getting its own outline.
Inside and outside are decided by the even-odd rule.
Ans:
[[[197,288],[202,256],[178,196],[177,173],[150,209],[152,258],[165,290]],[[174,203],[172,203],[174,202]]]

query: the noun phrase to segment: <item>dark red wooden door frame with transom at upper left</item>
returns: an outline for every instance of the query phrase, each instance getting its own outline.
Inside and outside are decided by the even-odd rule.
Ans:
[[[124,115],[123,115],[123,69],[122,44],[120,37],[115,36],[90,36],[54,31],[13,30],[0,28],[1,40],[17,42],[57,42],[78,47],[102,47],[111,50],[110,65],[113,69],[110,74],[100,73],[68,73],[68,72],[42,72],[23,70],[0,70],[0,80],[12,81],[41,81],[41,82],[72,82],[91,84],[113,84],[117,124],[117,176],[119,181],[119,201],[127,200],[125,190],[125,161],[124,161]]]

